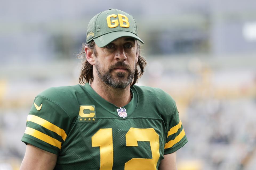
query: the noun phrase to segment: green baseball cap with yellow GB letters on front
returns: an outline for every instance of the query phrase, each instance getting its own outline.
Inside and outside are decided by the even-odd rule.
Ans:
[[[99,47],[104,47],[120,37],[133,37],[144,42],[138,36],[137,24],[130,14],[112,9],[95,15],[87,27],[86,43],[94,40]]]

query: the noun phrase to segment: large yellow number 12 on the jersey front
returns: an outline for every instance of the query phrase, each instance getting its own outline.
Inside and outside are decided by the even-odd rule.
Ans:
[[[156,169],[160,156],[159,135],[153,128],[130,128],[126,133],[126,146],[138,146],[138,141],[148,141],[152,152],[152,159],[133,158],[125,163],[125,170],[129,169]],[[111,170],[113,167],[113,137],[112,129],[99,129],[91,138],[92,147],[99,147],[101,166],[100,170]]]

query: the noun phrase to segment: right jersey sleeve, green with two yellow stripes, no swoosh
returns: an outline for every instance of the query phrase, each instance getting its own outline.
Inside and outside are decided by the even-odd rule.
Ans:
[[[170,118],[169,124],[167,124],[168,133],[166,137],[164,154],[171,154],[187,143],[187,137],[183,129],[182,122],[179,118],[179,113],[175,102],[173,107],[174,113]]]

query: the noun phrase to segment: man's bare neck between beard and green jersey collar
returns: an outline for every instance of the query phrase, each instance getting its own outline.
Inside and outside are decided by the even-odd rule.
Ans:
[[[91,83],[91,88],[103,99],[117,107],[123,107],[131,101],[130,86],[125,89],[113,88],[102,82],[102,80],[94,79]]]

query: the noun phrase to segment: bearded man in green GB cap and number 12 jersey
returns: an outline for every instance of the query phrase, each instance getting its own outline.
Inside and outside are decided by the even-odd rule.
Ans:
[[[146,65],[137,40],[135,20],[123,11],[91,19],[79,79],[87,83],[35,97],[21,169],[177,169],[175,151],[187,138],[175,101],[134,85]]]

